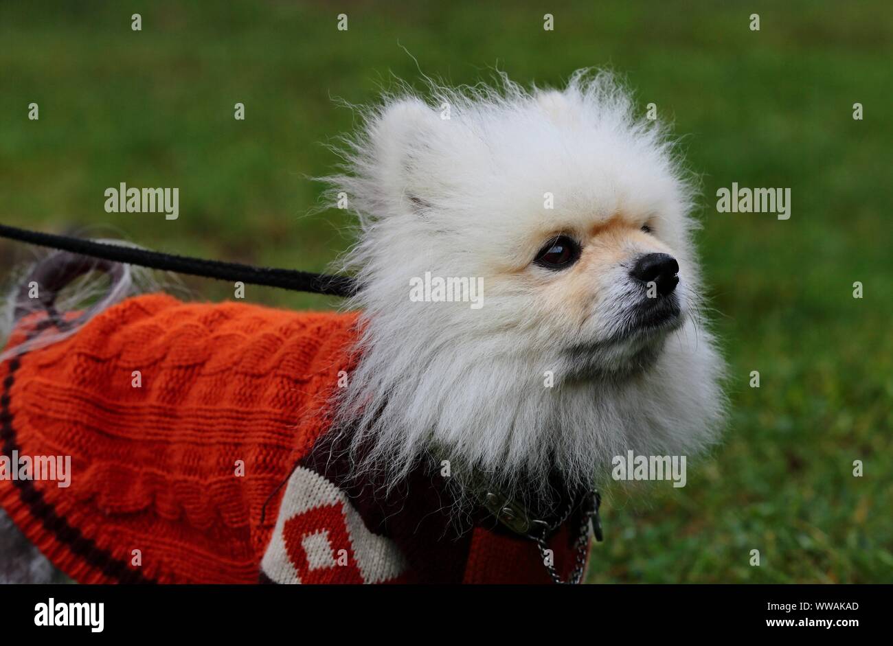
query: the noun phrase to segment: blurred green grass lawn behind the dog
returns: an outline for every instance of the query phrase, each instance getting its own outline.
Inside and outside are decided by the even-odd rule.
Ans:
[[[337,162],[322,144],[355,124],[334,98],[373,101],[392,74],[421,86],[413,57],[453,83],[494,66],[538,84],[610,66],[641,109],[675,121],[703,178],[698,244],[731,412],[688,486],[609,492],[589,580],[893,582],[891,35],[886,0],[4,3],[0,221],[324,269],[349,243],[342,211],[309,214],[321,186],[308,177]],[[120,181],[179,186],[179,219],[105,213]],[[790,187],[791,218],[717,213],[716,189],[733,181]],[[0,274],[32,254],[0,243]],[[187,282],[197,298],[231,295]]]

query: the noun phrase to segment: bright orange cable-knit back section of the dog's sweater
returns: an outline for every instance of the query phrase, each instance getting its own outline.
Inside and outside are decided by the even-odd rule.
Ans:
[[[149,579],[255,583],[278,501],[262,521],[263,504],[325,430],[354,325],[354,315],[163,294],[105,311],[9,376],[19,453],[71,456],[70,487],[34,488],[82,547],[141,560]],[[46,532],[17,484],[0,480],[0,501],[57,567],[117,580]]]

